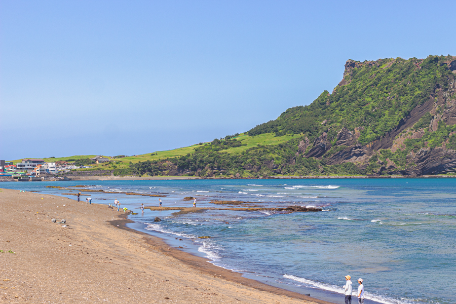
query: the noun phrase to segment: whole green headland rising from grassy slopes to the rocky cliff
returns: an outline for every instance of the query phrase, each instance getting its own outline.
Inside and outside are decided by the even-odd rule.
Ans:
[[[63,176],[456,174],[456,57],[348,60],[311,104],[211,142],[74,169]],[[240,130],[241,131],[241,130]],[[45,161],[90,163],[94,156]],[[20,161],[20,160],[16,160]]]

